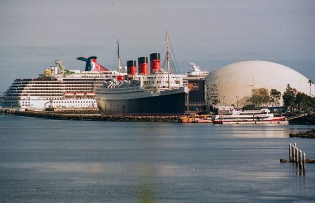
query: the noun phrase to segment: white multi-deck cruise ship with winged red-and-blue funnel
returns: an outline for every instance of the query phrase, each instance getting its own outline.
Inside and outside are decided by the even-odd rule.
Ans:
[[[97,63],[97,57],[79,57],[86,62],[85,71],[68,70],[61,60],[44,70],[35,79],[16,79],[6,90],[3,108],[16,111],[45,110],[61,108],[96,108],[95,88],[102,87],[108,78],[124,75],[125,72],[113,71]]]

